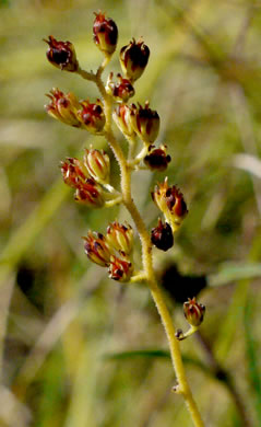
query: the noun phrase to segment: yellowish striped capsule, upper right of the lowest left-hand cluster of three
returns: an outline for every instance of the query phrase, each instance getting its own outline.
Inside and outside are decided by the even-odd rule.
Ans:
[[[130,254],[133,247],[133,230],[131,226],[120,224],[118,221],[110,223],[107,228],[107,242],[119,252]]]

